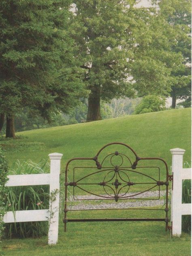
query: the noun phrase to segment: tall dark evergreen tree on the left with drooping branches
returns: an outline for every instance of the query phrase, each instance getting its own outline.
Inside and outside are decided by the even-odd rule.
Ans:
[[[49,119],[82,93],[82,69],[70,37],[70,0],[0,1],[0,128],[15,137],[23,106]]]

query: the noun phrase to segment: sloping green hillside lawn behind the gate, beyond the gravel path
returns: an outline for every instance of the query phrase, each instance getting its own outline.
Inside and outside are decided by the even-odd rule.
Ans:
[[[190,162],[190,112],[191,108],[175,109],[105,119],[90,123],[30,130],[17,133],[17,135],[27,136],[28,138],[1,141],[1,144],[4,148],[8,149],[7,157],[10,165],[14,163],[16,159],[19,159],[20,162],[31,159],[38,163],[42,158],[47,159],[49,153],[59,152],[63,154],[61,169],[64,171],[66,162],[70,158],[94,157],[103,145],[118,141],[130,145],[140,157],[163,158],[168,164],[169,171],[171,171],[172,156],[169,150],[172,148],[185,149],[184,161]],[[128,148],[120,145],[112,145],[105,148],[99,156],[99,161],[101,162],[107,154],[111,152],[114,153],[115,151],[128,155],[132,163],[135,161],[134,154]],[[116,159],[117,157],[115,156],[115,158],[113,158],[115,165],[118,162],[118,159],[117,162]],[[124,163],[125,166],[127,166],[126,161]],[[107,165],[108,164],[111,166],[109,159]],[[69,166],[68,172],[70,181],[73,180],[73,167],[75,165],[96,167],[94,161],[73,161]],[[137,167],[140,166],[160,167],[160,180],[165,180],[166,170],[161,161],[139,161]],[[90,171],[94,172],[98,170],[90,168],[76,169],[75,180],[89,174]],[[137,171],[159,180],[157,168],[138,168]],[[106,174],[107,171],[89,176],[85,178],[83,182],[102,182]],[[111,174],[109,174],[107,178],[110,178]],[[124,176],[122,172],[121,174]],[[151,182],[151,179],[147,178],[147,176],[129,172],[129,178],[132,182],[141,182],[141,177],[142,182]],[[124,178],[126,177],[124,176]],[[124,190],[125,189],[126,187]],[[131,191],[144,191],[146,189],[149,189],[149,186],[144,184],[131,187]],[[157,189],[157,187],[154,188],[154,190]],[[160,189],[164,189],[164,187],[160,187]],[[90,186],[90,190],[94,193],[104,193],[103,187],[98,185]],[[124,190],[122,192],[126,192]],[[112,191],[108,192],[111,193]],[[77,188],[76,193],[85,194],[82,190]]]

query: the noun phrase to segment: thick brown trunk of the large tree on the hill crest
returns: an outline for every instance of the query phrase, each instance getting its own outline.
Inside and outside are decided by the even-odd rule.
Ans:
[[[88,98],[87,121],[101,120],[100,87],[94,87]]]

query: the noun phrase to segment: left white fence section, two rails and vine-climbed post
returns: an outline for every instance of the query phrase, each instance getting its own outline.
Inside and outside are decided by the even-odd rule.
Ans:
[[[26,221],[49,221],[48,244],[58,241],[59,227],[59,189],[60,189],[60,162],[62,154],[49,154],[51,160],[50,174],[21,174],[9,175],[7,187],[47,185],[50,189],[49,209],[45,210],[18,210],[6,212],[3,218],[5,223]],[[55,193],[56,192],[56,193]],[[54,200],[52,200],[54,195]]]

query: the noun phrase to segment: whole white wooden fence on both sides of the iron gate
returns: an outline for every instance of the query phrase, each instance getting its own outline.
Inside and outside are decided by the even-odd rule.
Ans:
[[[183,154],[185,150],[175,148],[170,150],[172,156],[173,190],[171,195],[172,234],[181,234],[181,216],[191,214],[191,204],[182,204],[182,180],[191,179],[191,168],[183,169]],[[59,189],[60,189],[60,162],[62,154],[49,154],[51,161],[50,174],[21,174],[9,175],[7,187],[48,185],[50,186],[49,209],[45,210],[18,210],[6,212],[3,221],[49,221],[48,244],[58,241],[59,227]],[[55,193],[55,191],[58,191]],[[54,195],[55,199],[51,200]]]

